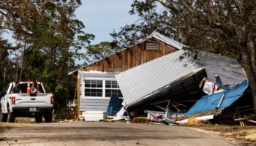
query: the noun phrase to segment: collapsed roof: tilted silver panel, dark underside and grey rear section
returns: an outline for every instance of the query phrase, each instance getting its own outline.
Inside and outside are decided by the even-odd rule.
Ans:
[[[126,72],[116,80],[127,110],[147,110],[161,101],[192,101],[187,110],[203,96],[199,87],[204,77],[221,77],[224,85],[237,85],[246,79],[240,64],[232,58],[199,52],[197,59],[183,57],[184,50],[165,55]],[[175,105],[173,105],[175,107]]]

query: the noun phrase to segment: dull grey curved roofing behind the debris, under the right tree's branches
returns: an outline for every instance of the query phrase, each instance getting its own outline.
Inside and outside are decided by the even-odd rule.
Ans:
[[[223,84],[238,84],[246,79],[243,69],[240,64],[233,58],[228,58],[223,55],[214,53],[206,53],[200,51],[197,59],[193,61],[197,67],[206,69],[208,79],[214,80],[214,76],[218,75]]]

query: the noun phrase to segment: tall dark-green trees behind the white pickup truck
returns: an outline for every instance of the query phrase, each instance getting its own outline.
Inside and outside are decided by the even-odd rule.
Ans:
[[[67,106],[76,85],[67,73],[77,68],[75,58],[81,58],[80,50],[94,39],[75,18],[80,4],[80,0],[0,2],[0,69],[6,68],[5,82],[0,70],[1,87],[12,80],[39,80],[56,96],[57,113]],[[5,31],[13,34],[15,45],[3,38]],[[10,57],[10,50],[15,57]]]

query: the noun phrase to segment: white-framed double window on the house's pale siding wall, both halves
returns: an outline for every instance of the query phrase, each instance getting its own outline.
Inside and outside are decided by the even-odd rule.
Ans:
[[[85,97],[123,97],[115,80],[85,80]]]

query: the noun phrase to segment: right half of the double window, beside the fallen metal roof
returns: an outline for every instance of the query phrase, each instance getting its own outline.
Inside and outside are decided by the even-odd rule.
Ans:
[[[105,97],[122,97],[121,91],[116,81],[106,80],[105,82]]]

